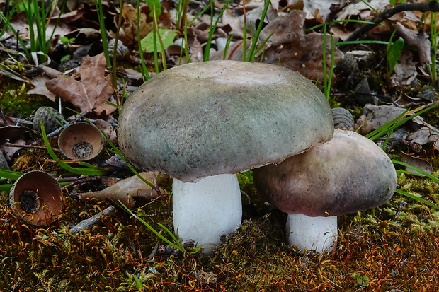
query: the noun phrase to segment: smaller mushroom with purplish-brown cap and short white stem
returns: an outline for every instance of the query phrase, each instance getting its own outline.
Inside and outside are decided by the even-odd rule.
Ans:
[[[356,132],[336,129],[331,141],[253,170],[261,197],[288,214],[287,241],[299,250],[331,252],[337,216],[387,202],[397,173],[386,153]]]

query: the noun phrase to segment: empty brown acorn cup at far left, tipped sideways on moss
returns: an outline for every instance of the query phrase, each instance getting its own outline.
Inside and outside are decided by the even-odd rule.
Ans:
[[[9,202],[24,221],[45,226],[61,211],[61,187],[52,175],[30,171],[13,184]]]

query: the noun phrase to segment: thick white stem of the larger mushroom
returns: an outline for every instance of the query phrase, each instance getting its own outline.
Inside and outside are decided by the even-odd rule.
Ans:
[[[173,180],[173,226],[181,240],[192,239],[209,254],[221,236],[241,224],[241,191],[236,175],[214,175],[196,182]]]

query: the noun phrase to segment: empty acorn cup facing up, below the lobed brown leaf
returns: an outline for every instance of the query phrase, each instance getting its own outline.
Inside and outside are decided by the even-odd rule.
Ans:
[[[94,125],[79,122],[66,127],[59,134],[58,146],[64,156],[72,160],[90,160],[98,156],[103,148],[103,135]]]

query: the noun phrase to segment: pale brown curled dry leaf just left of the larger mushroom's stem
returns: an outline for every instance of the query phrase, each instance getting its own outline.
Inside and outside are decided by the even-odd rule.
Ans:
[[[153,173],[140,173],[140,175],[149,182],[154,181]],[[153,189],[145,182],[140,180],[137,175],[128,177],[125,180],[120,180],[120,182],[107,187],[98,192],[86,192],[83,194],[78,194],[78,199],[111,199],[115,202],[121,202],[128,208],[132,208],[135,204],[134,197],[144,197],[146,199],[154,199],[160,197],[160,194],[164,194],[164,190],[160,189],[160,193]]]

